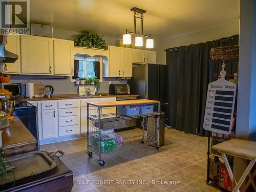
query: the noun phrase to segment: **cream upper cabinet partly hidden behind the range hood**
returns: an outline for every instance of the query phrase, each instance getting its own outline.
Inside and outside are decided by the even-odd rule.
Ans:
[[[8,35],[5,49],[18,55],[18,58],[13,63],[3,63],[3,73],[19,74],[20,73],[20,52],[19,52],[19,35]]]

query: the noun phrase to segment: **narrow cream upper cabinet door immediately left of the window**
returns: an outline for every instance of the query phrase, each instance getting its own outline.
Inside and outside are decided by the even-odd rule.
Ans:
[[[54,39],[54,74],[74,75],[74,41]]]

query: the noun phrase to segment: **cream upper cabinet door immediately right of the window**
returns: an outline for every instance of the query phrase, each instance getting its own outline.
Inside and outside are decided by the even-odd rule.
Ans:
[[[109,46],[109,77],[121,76],[122,49]]]

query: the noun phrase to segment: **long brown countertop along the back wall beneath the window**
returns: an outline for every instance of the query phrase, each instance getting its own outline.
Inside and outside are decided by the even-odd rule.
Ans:
[[[90,98],[104,98],[104,97],[139,97],[139,95],[110,95],[108,93],[99,93],[98,95],[80,96],[78,94],[60,94],[53,95],[50,98],[19,98],[16,101],[42,101],[42,100],[59,100],[59,99],[90,99]]]

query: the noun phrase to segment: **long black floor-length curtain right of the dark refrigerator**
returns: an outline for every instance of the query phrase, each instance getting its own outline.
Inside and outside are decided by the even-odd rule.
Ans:
[[[166,50],[168,124],[185,133],[204,135],[210,49],[238,45],[238,35]]]

